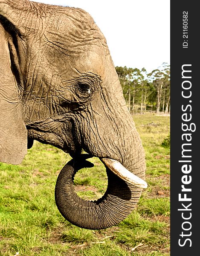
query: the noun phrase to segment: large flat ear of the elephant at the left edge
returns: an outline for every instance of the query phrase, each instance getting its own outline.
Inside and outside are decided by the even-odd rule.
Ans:
[[[27,132],[12,70],[7,34],[0,23],[0,162],[20,164],[27,153]]]

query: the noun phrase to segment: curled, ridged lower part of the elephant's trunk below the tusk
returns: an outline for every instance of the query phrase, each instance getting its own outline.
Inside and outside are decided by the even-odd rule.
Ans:
[[[55,202],[59,211],[64,218],[81,228],[99,230],[118,224],[135,208],[142,189],[122,180],[106,167],[108,186],[104,196],[97,201],[85,201],[78,197],[73,185],[75,172],[85,167],[83,162],[72,159],[58,175]]]

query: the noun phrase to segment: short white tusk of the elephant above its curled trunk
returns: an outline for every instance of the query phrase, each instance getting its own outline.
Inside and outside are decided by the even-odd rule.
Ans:
[[[129,172],[121,163],[119,163],[119,161],[110,158],[100,158],[100,160],[122,180],[142,189],[147,188],[148,185],[145,180],[142,180],[132,172]]]

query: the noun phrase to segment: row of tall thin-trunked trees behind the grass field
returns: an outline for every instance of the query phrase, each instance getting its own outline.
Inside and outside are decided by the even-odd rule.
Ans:
[[[145,113],[146,108],[156,109],[159,113],[170,109],[170,66],[162,63],[161,67],[147,73],[145,68],[116,67],[119,81],[128,110],[132,113]]]

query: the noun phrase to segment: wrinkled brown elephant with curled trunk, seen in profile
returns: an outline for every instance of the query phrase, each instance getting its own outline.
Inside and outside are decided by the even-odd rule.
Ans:
[[[0,0],[0,162],[20,164],[34,140],[72,157],[55,202],[78,227],[118,224],[147,187],[142,141],[93,18],[78,8]],[[107,172],[97,201],[79,198],[73,185],[90,157]]]

